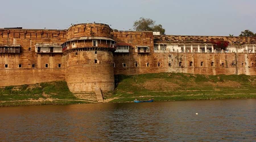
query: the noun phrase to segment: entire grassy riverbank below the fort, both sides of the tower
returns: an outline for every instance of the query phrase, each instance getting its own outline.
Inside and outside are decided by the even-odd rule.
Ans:
[[[117,87],[105,102],[256,98],[256,76],[205,76],[182,73],[116,76]],[[65,81],[0,88],[0,106],[96,103],[79,99]]]

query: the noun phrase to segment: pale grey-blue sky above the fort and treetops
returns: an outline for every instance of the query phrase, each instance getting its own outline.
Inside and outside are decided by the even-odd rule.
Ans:
[[[67,29],[101,22],[133,29],[140,17],[162,24],[167,35],[238,36],[256,33],[256,0],[0,0],[0,28]]]

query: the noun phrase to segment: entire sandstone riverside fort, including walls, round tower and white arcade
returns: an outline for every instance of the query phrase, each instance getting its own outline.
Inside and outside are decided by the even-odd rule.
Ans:
[[[227,41],[227,47],[215,43]],[[114,75],[256,75],[256,37],[175,36],[107,24],[0,29],[0,86],[65,80],[73,93],[112,91]]]

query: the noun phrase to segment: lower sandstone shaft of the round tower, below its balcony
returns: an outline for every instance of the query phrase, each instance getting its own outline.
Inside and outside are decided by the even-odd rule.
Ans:
[[[94,92],[114,89],[113,53],[111,51],[78,51],[65,55],[65,79],[70,91]],[[97,60],[97,63],[95,63]]]

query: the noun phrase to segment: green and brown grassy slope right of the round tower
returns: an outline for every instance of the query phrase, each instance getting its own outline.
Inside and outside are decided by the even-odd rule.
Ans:
[[[158,73],[116,79],[114,95],[106,96],[110,102],[256,98],[256,76]]]

